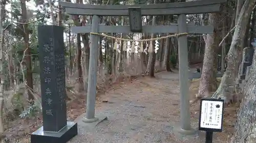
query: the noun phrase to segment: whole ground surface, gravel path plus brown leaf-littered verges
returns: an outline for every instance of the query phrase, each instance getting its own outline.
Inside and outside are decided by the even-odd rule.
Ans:
[[[108,116],[94,129],[85,129],[80,115],[86,109],[86,96],[74,95],[68,101],[68,119],[78,122],[79,134],[70,142],[202,142],[204,133],[197,136],[178,137],[173,128],[180,120],[178,71],[159,72],[156,78],[138,77],[113,84],[111,89],[97,95],[96,114]],[[199,79],[190,82],[191,126],[198,128],[199,101],[195,99]],[[194,102],[195,101],[195,102]],[[225,107],[224,130],[214,135],[214,142],[228,142],[234,132],[238,104]],[[26,123],[26,124],[25,124]],[[41,126],[41,117],[31,120],[15,120],[7,126],[11,142],[29,143],[29,133]],[[121,128],[120,128],[121,127]],[[9,135],[10,134],[10,135]],[[92,134],[94,134],[92,136]],[[102,138],[102,135],[104,138]],[[22,136],[22,137],[21,137]],[[18,138],[18,139],[17,139]]]

